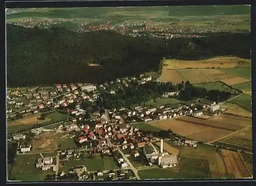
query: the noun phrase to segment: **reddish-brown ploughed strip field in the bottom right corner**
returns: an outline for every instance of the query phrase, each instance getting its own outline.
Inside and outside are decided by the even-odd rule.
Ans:
[[[251,177],[238,152],[224,149],[221,152],[229,175],[233,175],[236,178]]]

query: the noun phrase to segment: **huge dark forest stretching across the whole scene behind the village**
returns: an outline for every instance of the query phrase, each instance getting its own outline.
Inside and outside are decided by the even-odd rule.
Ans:
[[[250,34],[211,34],[169,41],[114,32],[75,33],[7,25],[8,86],[105,82],[158,71],[161,58],[250,58]],[[96,63],[100,66],[89,66]]]

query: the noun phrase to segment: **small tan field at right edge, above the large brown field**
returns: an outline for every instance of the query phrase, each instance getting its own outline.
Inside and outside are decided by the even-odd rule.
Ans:
[[[241,117],[250,117],[251,118],[251,112],[241,108],[237,104],[224,103],[223,105],[221,105],[221,107],[226,109],[224,111],[224,113],[231,113],[231,114],[240,115]]]

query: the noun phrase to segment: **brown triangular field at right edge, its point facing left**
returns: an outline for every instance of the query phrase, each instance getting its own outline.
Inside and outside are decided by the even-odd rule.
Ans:
[[[251,127],[247,128],[241,132],[221,139],[220,142],[252,148],[252,129]]]

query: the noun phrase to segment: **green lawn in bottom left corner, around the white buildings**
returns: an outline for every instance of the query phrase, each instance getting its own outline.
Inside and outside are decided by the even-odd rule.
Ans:
[[[15,164],[11,170],[9,179],[20,181],[44,181],[47,174],[54,174],[52,171],[42,171],[35,167],[35,161],[38,155],[26,154],[15,156]],[[8,170],[10,170],[8,164]]]

